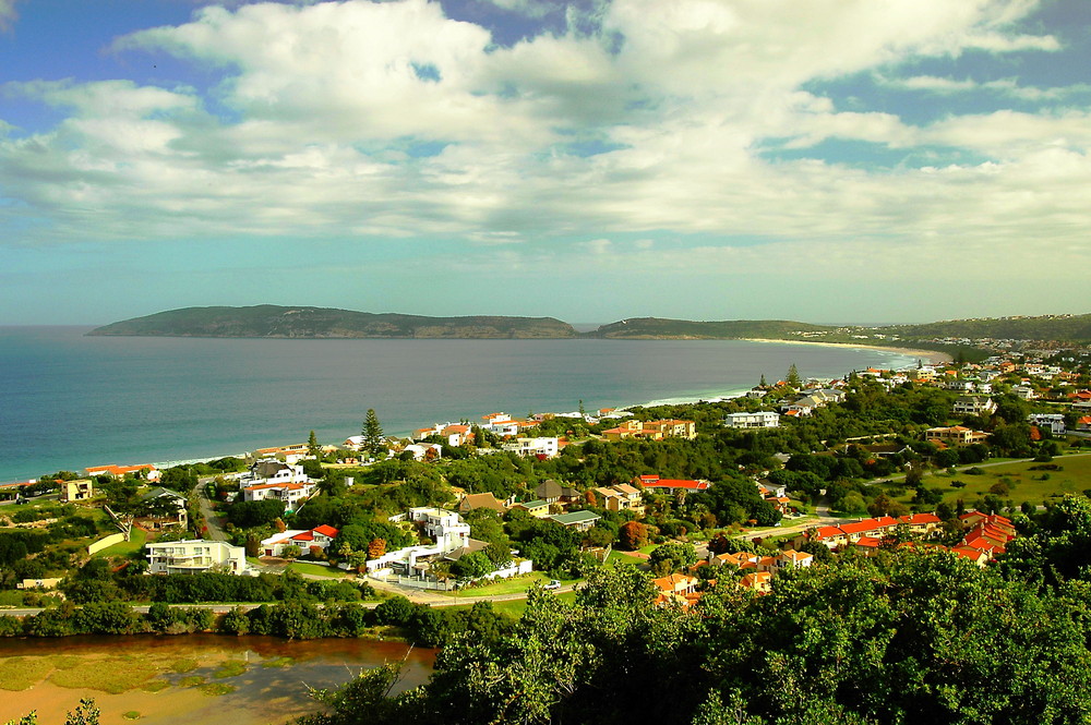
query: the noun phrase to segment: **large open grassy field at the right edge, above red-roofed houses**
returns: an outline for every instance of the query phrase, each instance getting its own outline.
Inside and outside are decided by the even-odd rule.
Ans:
[[[944,492],[944,500],[948,504],[961,498],[970,506],[973,500],[990,493],[997,483],[1006,483],[1009,492],[1002,494],[1005,502],[1011,500],[1016,506],[1030,502],[1042,505],[1047,498],[1056,498],[1065,494],[1081,494],[1091,488],[1091,456],[1058,456],[1051,463],[1060,467],[1060,471],[1033,471],[1042,466],[1032,461],[1002,463],[999,466],[981,467],[981,475],[969,475],[966,471],[950,475],[947,473],[924,476],[924,485],[939,488]],[[964,487],[951,486],[954,481],[966,483]],[[900,500],[909,503],[912,492],[908,492]]]

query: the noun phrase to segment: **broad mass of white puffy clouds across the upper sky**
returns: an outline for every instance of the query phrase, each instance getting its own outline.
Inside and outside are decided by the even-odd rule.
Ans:
[[[441,235],[511,269],[561,254],[541,241],[555,239],[589,240],[565,249],[599,264],[683,268],[700,257],[724,273],[765,269],[769,251],[825,268],[854,265],[877,242],[938,253],[957,239],[967,258],[1041,230],[1068,244],[1091,221],[1086,109],[921,125],[804,90],[876,69],[904,88],[975,90],[891,69],[970,49],[1053,51],[1048,36],[1017,29],[1035,7],[614,0],[597,34],[503,48],[425,0],[207,7],[113,49],[211,69],[211,93],[5,86],[69,114],[0,135],[0,194],[19,202],[0,214],[48,218],[34,227],[39,240]],[[1011,83],[984,86],[1019,93]],[[796,152],[841,140],[987,158],[890,171],[769,160],[770,140]],[[718,241],[684,252],[693,244],[642,237],[660,230]]]

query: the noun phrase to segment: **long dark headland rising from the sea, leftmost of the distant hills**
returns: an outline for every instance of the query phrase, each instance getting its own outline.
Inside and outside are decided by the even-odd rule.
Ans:
[[[552,317],[424,317],[328,307],[185,307],[105,325],[88,335],[260,338],[571,338]]]

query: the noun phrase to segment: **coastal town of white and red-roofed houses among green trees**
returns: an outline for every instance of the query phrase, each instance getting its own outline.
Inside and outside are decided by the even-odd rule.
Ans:
[[[337,443],[60,471],[2,491],[0,635],[395,637],[459,657],[580,611],[706,637],[795,602],[805,636],[859,577],[886,593],[836,606],[1069,587],[1088,555],[1066,542],[1091,532],[1089,372],[1046,350],[832,380],[792,365],[732,398],[404,437],[367,411]]]

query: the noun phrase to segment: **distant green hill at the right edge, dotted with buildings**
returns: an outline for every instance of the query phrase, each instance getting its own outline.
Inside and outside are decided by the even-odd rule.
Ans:
[[[1091,340],[1091,315],[1041,315],[1036,317],[983,317],[950,319],[924,325],[894,325],[884,333],[902,337],[994,338],[1003,340]]]

